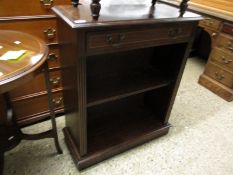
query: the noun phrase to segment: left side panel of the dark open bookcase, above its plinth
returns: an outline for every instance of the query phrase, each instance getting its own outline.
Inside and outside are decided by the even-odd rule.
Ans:
[[[85,33],[68,26],[58,18],[61,50],[62,83],[66,129],[69,131],[80,156],[86,150],[86,73],[83,42]]]

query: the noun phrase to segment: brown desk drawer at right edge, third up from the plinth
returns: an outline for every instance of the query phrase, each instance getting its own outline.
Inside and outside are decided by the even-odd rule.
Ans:
[[[217,47],[233,53],[233,37],[220,34],[217,38],[216,44],[217,44]]]

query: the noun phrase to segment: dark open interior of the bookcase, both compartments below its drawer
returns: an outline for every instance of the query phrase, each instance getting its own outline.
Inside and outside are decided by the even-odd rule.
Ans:
[[[97,153],[168,126],[167,110],[184,56],[179,51],[186,47],[176,44],[87,57],[87,152]]]

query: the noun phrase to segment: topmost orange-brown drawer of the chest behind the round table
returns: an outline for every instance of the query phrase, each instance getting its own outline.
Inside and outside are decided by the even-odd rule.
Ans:
[[[51,7],[60,4],[71,4],[70,0],[1,0],[0,17],[34,16],[53,14]]]

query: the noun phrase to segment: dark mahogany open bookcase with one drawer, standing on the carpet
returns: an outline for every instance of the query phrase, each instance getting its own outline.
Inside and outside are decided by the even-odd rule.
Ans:
[[[102,0],[99,15],[93,15],[90,1],[53,8],[65,58],[65,140],[79,169],[162,136],[170,127],[201,17],[162,3],[130,2]]]

